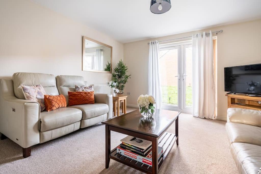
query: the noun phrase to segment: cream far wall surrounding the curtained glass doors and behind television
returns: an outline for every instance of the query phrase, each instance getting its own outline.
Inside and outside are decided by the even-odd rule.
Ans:
[[[219,31],[217,35],[217,116],[226,120],[227,97],[224,91],[224,67],[261,63],[261,20],[224,25],[200,31],[175,34],[124,44],[124,62],[131,79],[124,92],[131,92],[127,104],[137,105],[140,94],[147,94],[148,57],[150,40],[169,40],[187,37],[198,32]],[[213,36],[216,36],[214,34]],[[176,40],[181,41],[181,40]]]

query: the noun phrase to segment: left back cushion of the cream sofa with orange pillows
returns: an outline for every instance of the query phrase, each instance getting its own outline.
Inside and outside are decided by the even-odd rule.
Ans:
[[[52,74],[42,73],[14,73],[13,84],[15,96],[19,99],[25,99],[23,95],[22,86],[36,86],[42,85],[46,94],[59,95],[55,76]]]

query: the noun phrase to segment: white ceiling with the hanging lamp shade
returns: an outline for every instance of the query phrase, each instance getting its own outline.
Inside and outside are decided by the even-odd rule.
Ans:
[[[261,0],[171,0],[164,14],[151,13],[150,0],[32,1],[122,43],[261,18]]]

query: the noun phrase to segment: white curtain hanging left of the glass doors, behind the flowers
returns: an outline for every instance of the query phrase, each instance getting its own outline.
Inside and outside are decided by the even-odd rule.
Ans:
[[[152,95],[155,98],[156,109],[161,109],[162,95],[159,71],[159,43],[157,40],[150,41],[148,82],[148,94]]]

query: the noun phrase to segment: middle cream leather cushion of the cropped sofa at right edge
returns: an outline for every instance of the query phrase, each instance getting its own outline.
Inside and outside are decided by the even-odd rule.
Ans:
[[[261,146],[261,127],[241,123],[226,123],[229,143],[242,142]]]

